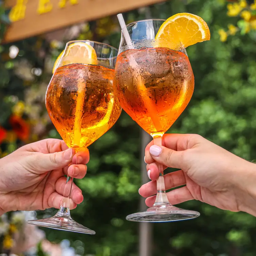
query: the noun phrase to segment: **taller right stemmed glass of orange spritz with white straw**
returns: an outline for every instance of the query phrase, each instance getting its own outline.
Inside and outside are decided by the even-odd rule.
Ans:
[[[194,90],[186,50],[161,48],[157,44],[155,36],[164,21],[141,20],[122,28],[114,79],[114,93],[122,108],[153,137],[155,145],[162,145],[163,134],[186,108]],[[126,219],[169,222],[198,217],[199,212],[170,204],[162,164],[158,168],[155,204]]]

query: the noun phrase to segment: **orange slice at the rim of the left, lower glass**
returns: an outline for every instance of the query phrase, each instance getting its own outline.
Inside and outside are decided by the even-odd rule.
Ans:
[[[75,42],[68,47],[64,56],[62,56],[63,52],[64,51],[61,52],[55,61],[52,73],[54,73],[57,66],[68,64],[80,63],[97,65],[97,55],[94,48],[85,42]]]

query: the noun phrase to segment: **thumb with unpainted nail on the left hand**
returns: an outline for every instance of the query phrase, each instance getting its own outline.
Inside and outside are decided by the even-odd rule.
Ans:
[[[43,154],[38,157],[37,169],[48,172],[54,169],[64,168],[69,165],[76,154],[73,148],[51,154]],[[39,171],[39,170],[38,170]]]

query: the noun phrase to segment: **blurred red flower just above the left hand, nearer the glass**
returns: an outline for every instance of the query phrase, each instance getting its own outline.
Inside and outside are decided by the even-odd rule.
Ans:
[[[29,138],[30,127],[24,119],[13,115],[10,117],[10,124],[20,140],[25,141]]]

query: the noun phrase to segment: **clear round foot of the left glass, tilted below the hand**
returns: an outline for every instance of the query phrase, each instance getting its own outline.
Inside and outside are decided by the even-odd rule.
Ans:
[[[71,217],[68,217],[68,216],[59,217],[55,215],[53,217],[42,219],[42,220],[29,220],[27,221],[27,223],[41,226],[41,227],[49,227],[54,229],[95,235],[94,230],[84,227],[83,225],[77,223],[76,221],[72,220]]]

